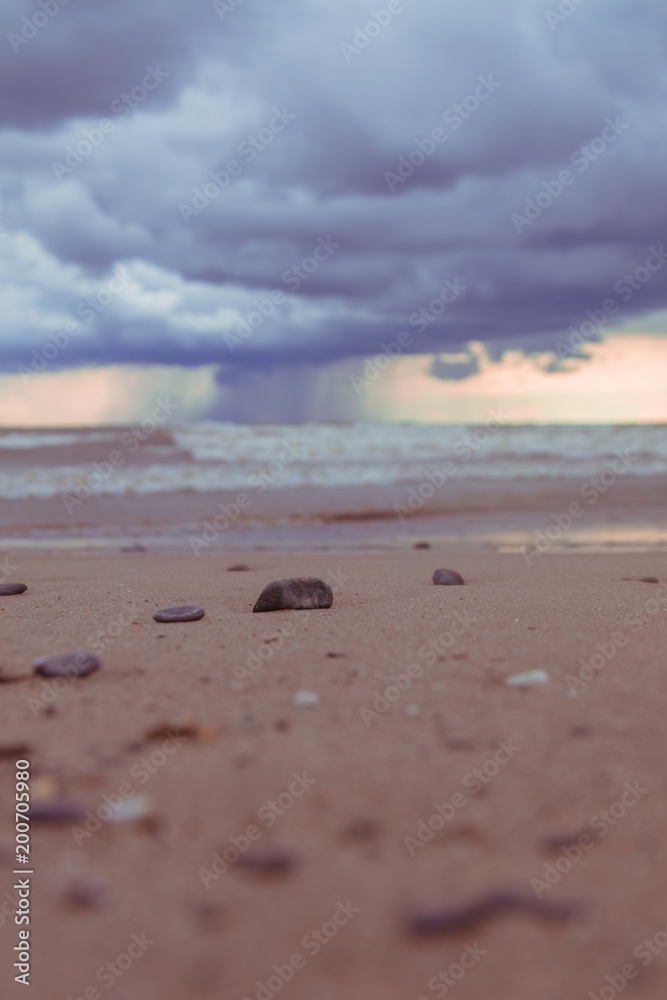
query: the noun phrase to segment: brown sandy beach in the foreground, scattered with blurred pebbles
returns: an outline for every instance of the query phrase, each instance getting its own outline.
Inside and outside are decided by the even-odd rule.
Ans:
[[[35,996],[662,1000],[664,555],[11,558],[3,796],[27,758],[80,811],[32,824]],[[330,610],[252,614],[303,575]],[[178,604],[206,616],[153,621]]]

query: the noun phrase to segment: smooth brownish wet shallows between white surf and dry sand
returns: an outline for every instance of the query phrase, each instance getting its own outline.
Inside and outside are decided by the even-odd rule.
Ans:
[[[69,516],[59,498],[3,500],[0,548],[141,544],[202,554],[242,548],[390,551],[426,540],[480,551],[520,551],[535,545],[547,529],[551,547],[557,548],[648,551],[667,546],[662,476],[618,480],[604,493],[586,492],[586,483],[577,479],[452,482],[413,512],[408,504],[418,485],[272,490],[246,505],[239,503],[237,491],[92,496]],[[574,518],[568,514],[573,505],[580,510]],[[571,526],[555,537],[554,523],[568,519]]]

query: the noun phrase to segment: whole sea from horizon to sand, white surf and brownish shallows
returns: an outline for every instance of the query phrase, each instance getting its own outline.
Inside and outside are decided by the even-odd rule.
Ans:
[[[665,483],[665,425],[0,428],[0,546],[520,547],[580,503],[559,546],[661,547]]]

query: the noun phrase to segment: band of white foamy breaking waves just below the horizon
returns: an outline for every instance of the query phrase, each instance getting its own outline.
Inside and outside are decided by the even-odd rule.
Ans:
[[[161,433],[171,438],[159,448],[148,437],[134,451],[119,444],[125,430],[0,433],[0,496],[49,497],[74,490],[93,472],[91,445],[98,463],[120,452],[120,464],[95,486],[98,494],[119,496],[243,490],[258,483],[256,476],[268,489],[415,483],[447,460],[454,467],[449,474],[458,479],[584,482],[619,453],[628,457],[628,475],[667,472],[663,426],[500,426],[488,432],[433,424],[200,423],[165,426]],[[288,445],[297,457],[285,461]],[[79,446],[86,448],[85,463],[77,456]],[[51,461],[42,453],[39,464],[30,466],[30,450],[45,447]],[[13,467],[9,458],[19,457],[21,449],[26,458]]]

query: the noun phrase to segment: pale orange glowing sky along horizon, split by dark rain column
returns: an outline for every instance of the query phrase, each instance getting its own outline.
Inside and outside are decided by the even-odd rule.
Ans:
[[[351,391],[348,368],[328,373],[329,391],[349,398],[366,420],[482,423],[502,406],[513,423],[667,422],[667,337],[618,334],[590,344],[589,361],[547,372],[550,355],[506,352],[492,361],[471,345],[480,370],[461,381],[429,375],[432,355],[398,358],[370,382],[360,397]],[[345,370],[343,370],[345,369]],[[216,398],[215,365],[201,368],[112,366],[44,372],[24,382],[0,375],[0,426],[85,427],[141,420],[160,395],[181,403],[175,422],[206,419]],[[350,418],[355,414],[350,412]]]

